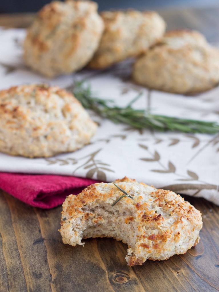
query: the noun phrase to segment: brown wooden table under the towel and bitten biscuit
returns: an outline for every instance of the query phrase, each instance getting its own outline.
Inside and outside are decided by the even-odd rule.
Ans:
[[[161,11],[168,29],[189,28],[219,41],[217,8]],[[32,14],[0,15],[0,25],[26,27]],[[185,255],[128,267],[127,246],[87,239],[62,243],[61,207],[32,208],[0,191],[0,291],[219,291],[219,207],[184,196],[203,214],[200,243]]]

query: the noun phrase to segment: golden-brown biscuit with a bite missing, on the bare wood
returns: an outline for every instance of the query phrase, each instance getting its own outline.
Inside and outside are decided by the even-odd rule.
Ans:
[[[63,203],[63,242],[84,245],[82,239],[113,237],[128,245],[128,265],[166,260],[184,254],[199,242],[201,213],[180,195],[137,183],[127,177],[115,183],[95,183]]]

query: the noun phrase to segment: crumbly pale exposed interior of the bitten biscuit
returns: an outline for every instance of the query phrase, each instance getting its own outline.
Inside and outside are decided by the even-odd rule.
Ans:
[[[127,206],[121,212],[120,204],[111,206],[101,202],[100,205],[97,203],[92,205],[83,206],[83,217],[78,218],[77,223],[74,223],[74,230],[79,237],[77,241],[90,237],[113,237],[134,248],[137,236],[134,209]],[[81,242],[79,244],[84,245]]]

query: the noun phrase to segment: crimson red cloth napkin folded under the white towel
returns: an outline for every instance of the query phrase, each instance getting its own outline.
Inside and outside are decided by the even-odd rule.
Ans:
[[[34,207],[50,209],[98,180],[63,175],[0,173],[0,188]]]

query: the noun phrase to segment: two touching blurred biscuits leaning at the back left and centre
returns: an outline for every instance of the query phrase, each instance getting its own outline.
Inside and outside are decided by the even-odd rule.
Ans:
[[[90,68],[103,69],[138,56],[161,41],[165,22],[156,12],[97,13],[92,1],[53,1],[28,29],[24,59],[32,69],[55,77]]]

